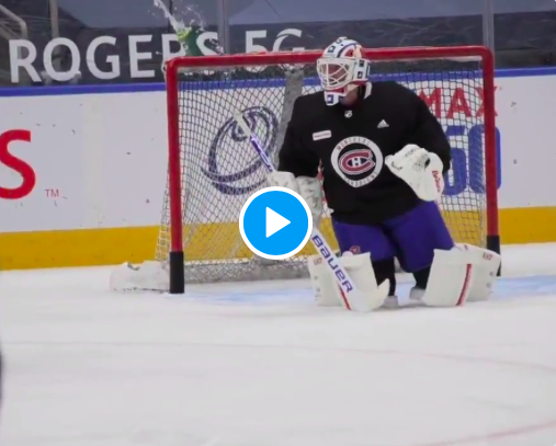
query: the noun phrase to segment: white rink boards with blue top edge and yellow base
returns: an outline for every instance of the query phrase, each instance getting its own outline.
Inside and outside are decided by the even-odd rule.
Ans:
[[[429,87],[425,94],[433,98],[434,85]],[[269,89],[280,94],[280,87]],[[509,71],[497,78],[500,226],[504,243],[556,241],[556,194],[552,185],[556,151],[551,147],[555,139],[551,119],[556,112],[551,100],[554,91],[554,70]],[[449,119],[455,117],[466,123],[468,130],[477,123],[480,103],[465,95],[464,100],[468,111],[464,103],[456,104],[459,117],[450,116],[450,106],[443,104],[436,108],[431,103],[431,108],[445,126],[454,125]],[[280,117],[279,105],[273,101],[268,104],[270,112]],[[0,152],[9,142],[9,152],[26,165],[0,161],[0,270],[152,259],[166,188],[168,144],[162,85],[3,90],[0,107],[10,111],[8,115],[2,113],[0,122],[4,144],[0,144]],[[224,113],[209,117],[212,127],[204,131],[208,146],[229,116]],[[226,145],[219,150],[234,153],[234,147]],[[215,159],[225,157],[220,151]],[[220,164],[219,174],[235,173],[225,170],[229,164]],[[214,165],[207,162],[204,173],[211,173],[211,169]],[[473,169],[477,169],[473,162],[463,159],[458,167],[463,173],[447,185],[452,199],[461,198],[459,210],[449,213],[449,225],[456,232],[462,221],[472,228],[483,224],[483,216],[473,211],[484,202],[484,192],[473,183]],[[215,187],[214,175],[203,174],[200,169],[197,179],[200,191],[209,191],[204,192],[208,194],[206,203],[223,199],[228,205],[219,217],[198,217],[194,221],[204,237],[192,238],[186,256],[205,260],[217,233],[212,259],[226,259],[230,252],[249,255],[245,248],[236,248],[239,235],[234,216],[250,194],[252,178],[228,182],[226,197],[218,197],[222,188]],[[11,192],[5,192],[8,188]],[[476,243],[483,230],[466,230],[457,238]]]

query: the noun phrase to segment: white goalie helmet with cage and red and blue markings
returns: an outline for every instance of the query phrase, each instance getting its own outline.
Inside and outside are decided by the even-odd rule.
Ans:
[[[334,105],[350,91],[368,82],[371,62],[363,47],[348,37],[338,38],[317,60],[317,73],[328,105]]]

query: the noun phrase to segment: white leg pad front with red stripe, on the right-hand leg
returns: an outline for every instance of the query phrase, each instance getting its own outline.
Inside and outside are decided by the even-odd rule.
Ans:
[[[469,295],[475,261],[476,255],[459,249],[434,250],[423,302],[429,307],[464,305]]]

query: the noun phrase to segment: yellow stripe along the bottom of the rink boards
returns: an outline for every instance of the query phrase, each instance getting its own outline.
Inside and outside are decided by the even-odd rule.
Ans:
[[[464,219],[469,221],[466,233],[455,233],[455,237],[459,241],[477,243],[473,236],[477,232],[473,228],[478,225],[478,217],[472,213],[462,214],[447,214],[449,226],[454,229],[456,221],[459,227]],[[325,233],[331,233],[329,222],[322,228]],[[240,239],[237,224],[186,228],[185,239],[192,230],[197,235],[186,244],[188,259],[223,259],[230,253],[235,258],[251,255]],[[554,242],[556,207],[501,209],[500,231],[504,244]],[[158,232],[159,227],[133,227],[0,233],[0,271],[111,265],[125,261],[138,263],[154,259]],[[331,242],[336,245],[333,240]],[[309,252],[313,252],[311,247],[302,251],[304,254]]]

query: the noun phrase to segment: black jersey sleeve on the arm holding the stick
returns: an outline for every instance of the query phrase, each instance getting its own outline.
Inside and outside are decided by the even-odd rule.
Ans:
[[[296,101],[292,119],[287,124],[284,142],[279,153],[279,171],[292,172],[294,176],[315,178],[318,173],[319,158],[306,147],[300,130],[302,121],[299,116],[299,103]]]

